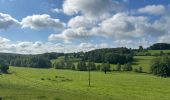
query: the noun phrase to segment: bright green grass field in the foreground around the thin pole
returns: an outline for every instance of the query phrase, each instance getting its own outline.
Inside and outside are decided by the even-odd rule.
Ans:
[[[0,75],[4,100],[169,100],[170,78],[133,72],[92,72],[10,67]]]

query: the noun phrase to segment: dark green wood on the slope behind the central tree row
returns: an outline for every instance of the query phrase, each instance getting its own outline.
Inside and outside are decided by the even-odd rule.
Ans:
[[[127,48],[97,49],[84,53],[82,59],[96,63],[109,62],[112,64],[124,64],[133,60],[133,52]]]

